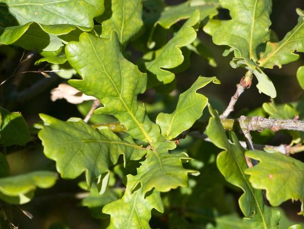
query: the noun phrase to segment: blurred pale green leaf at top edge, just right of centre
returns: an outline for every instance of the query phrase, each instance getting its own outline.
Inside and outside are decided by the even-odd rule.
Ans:
[[[200,21],[204,20],[206,17],[212,18],[217,15],[216,8],[218,7],[218,1],[212,1],[206,3],[206,1],[187,1],[185,3],[181,3],[175,6],[166,7],[162,13],[158,21],[155,23],[160,24],[164,28],[170,28],[176,22],[188,19],[191,17],[196,9],[200,12]]]

